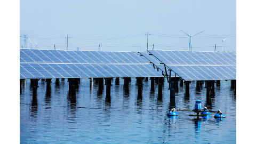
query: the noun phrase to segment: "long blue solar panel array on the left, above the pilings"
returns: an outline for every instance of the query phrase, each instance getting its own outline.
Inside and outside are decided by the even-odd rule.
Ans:
[[[133,52],[20,49],[23,78],[163,77]]]

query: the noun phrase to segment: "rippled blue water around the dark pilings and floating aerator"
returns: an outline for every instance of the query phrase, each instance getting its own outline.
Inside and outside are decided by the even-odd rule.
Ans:
[[[158,86],[150,93],[150,79],[143,79],[142,97],[138,97],[136,79],[131,78],[129,94],[124,93],[123,79],[111,83],[111,97],[97,95],[98,84],[90,88],[89,78],[81,79],[75,96],[68,95],[67,79],[59,86],[52,79],[51,93],[46,94],[45,81],[38,81],[37,100],[32,97],[30,80],[20,92],[20,143],[236,143],[236,95],[231,81],[215,84],[215,96],[206,103],[204,84],[196,91],[190,84],[185,97],[185,85],[175,95],[176,109],[192,110],[196,100],[202,108],[220,109],[226,118],[219,121],[188,116],[190,111],[178,111],[168,117],[170,90],[164,80],[163,95]],[[209,104],[209,105],[206,105]]]

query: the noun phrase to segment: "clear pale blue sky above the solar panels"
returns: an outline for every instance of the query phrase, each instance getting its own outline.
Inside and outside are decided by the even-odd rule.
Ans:
[[[236,1],[20,1],[20,49],[27,35],[28,49],[67,50],[68,37],[73,51],[188,51],[187,34],[193,51],[232,35],[223,51],[236,53]]]

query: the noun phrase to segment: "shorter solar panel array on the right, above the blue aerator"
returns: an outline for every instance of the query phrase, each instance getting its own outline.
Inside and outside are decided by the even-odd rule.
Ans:
[[[233,52],[148,52],[186,81],[236,79],[236,54]]]

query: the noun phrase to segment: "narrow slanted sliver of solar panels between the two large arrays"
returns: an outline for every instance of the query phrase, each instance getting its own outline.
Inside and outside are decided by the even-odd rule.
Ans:
[[[164,65],[160,64],[161,61],[159,61],[154,55],[149,55],[149,52],[140,52],[140,54],[143,55],[143,57],[145,57],[150,62],[154,63],[154,65],[156,67],[158,67],[159,69],[161,69],[163,71],[163,73],[165,74]],[[167,70],[167,68],[166,68],[166,70]],[[167,71],[167,73],[168,73],[168,71]],[[171,71],[171,77],[175,77],[175,73],[173,73],[173,71]]]

